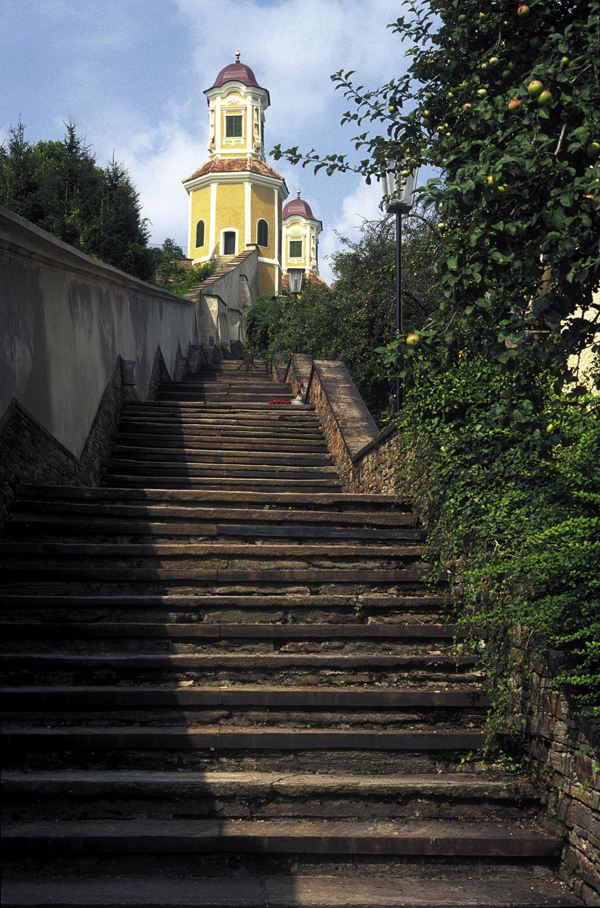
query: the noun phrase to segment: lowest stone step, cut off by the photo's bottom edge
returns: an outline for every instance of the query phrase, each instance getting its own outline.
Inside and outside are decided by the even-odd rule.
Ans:
[[[545,880],[406,879],[378,875],[153,878],[100,876],[11,882],[3,908],[580,908]]]

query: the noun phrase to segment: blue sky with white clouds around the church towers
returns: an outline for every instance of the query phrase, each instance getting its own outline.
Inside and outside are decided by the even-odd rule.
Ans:
[[[72,117],[104,166],[113,150],[151,222],[151,241],[187,246],[181,181],[207,158],[203,94],[235,60],[269,89],[266,144],[349,152],[347,103],[330,75],[356,70],[375,88],[405,67],[388,23],[402,0],[2,0],[0,141],[19,121],[30,143],[62,139]],[[273,162],[323,221],[321,274],[339,246],[378,214],[380,190],[358,175],[327,177]]]

